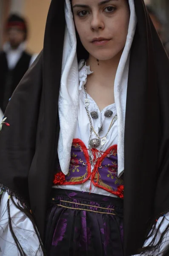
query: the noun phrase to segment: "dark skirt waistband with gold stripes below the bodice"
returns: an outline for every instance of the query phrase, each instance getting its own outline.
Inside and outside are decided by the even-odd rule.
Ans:
[[[52,189],[51,204],[72,210],[86,210],[123,218],[123,200],[94,193]]]

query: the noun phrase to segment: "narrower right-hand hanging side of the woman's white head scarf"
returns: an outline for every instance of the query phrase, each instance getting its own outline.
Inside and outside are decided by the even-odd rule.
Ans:
[[[118,177],[124,172],[124,126],[126,114],[126,97],[127,97],[127,83],[129,74],[129,52],[132,46],[132,41],[135,35],[135,28],[137,24],[137,17],[135,14],[134,0],[129,0],[130,6],[130,21],[129,30],[120,62],[115,76],[115,104],[117,109],[117,122],[118,122]]]

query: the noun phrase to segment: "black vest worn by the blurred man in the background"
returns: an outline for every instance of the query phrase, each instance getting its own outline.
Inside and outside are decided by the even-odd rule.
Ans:
[[[6,110],[9,98],[11,98],[15,88],[28,70],[31,57],[32,55],[23,51],[16,66],[12,70],[9,70],[6,53],[0,52],[0,108],[3,113]]]

